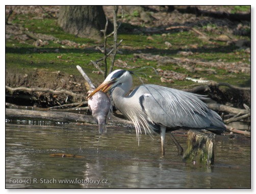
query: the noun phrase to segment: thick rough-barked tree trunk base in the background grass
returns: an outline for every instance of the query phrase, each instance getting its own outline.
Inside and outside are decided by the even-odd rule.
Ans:
[[[67,33],[99,41],[106,16],[102,6],[61,6],[58,24]]]

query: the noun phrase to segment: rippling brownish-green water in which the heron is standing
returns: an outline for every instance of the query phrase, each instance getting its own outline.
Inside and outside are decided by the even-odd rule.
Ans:
[[[138,146],[125,127],[99,136],[97,126],[6,119],[6,188],[250,188],[250,139],[217,136],[214,151],[210,167],[186,164],[168,134],[161,158],[160,136]]]

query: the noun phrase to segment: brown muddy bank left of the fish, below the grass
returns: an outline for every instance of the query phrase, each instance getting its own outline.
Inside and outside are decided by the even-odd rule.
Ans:
[[[14,91],[6,90],[6,102],[22,106],[52,107],[86,100],[86,85],[84,78],[70,75],[61,71],[33,70],[27,73],[18,73],[6,70],[6,85],[12,88],[44,88],[56,91],[71,91],[78,96],[64,93],[53,94],[43,91]]]

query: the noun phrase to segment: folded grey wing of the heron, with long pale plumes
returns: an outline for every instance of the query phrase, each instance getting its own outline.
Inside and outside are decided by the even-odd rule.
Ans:
[[[150,84],[140,86],[139,90],[144,93],[140,96],[141,107],[154,123],[168,127],[225,128],[221,117],[200,100],[206,99],[202,95]]]

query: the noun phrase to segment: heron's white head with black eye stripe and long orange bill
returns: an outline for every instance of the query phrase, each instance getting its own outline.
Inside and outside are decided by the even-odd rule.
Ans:
[[[108,77],[105,79],[105,81],[103,83],[101,83],[89,96],[88,98],[90,98],[91,96],[94,95],[94,93],[96,93],[97,91],[101,90],[103,92],[107,92],[110,89],[121,85],[121,84],[125,84],[125,83],[129,83],[129,85],[132,85],[132,76],[131,76],[131,72],[126,71],[126,70],[115,70],[113,71],[111,74],[108,75]],[[131,86],[130,86],[131,87]],[[128,88],[128,87],[127,87]],[[130,89],[130,88],[128,88]]]

